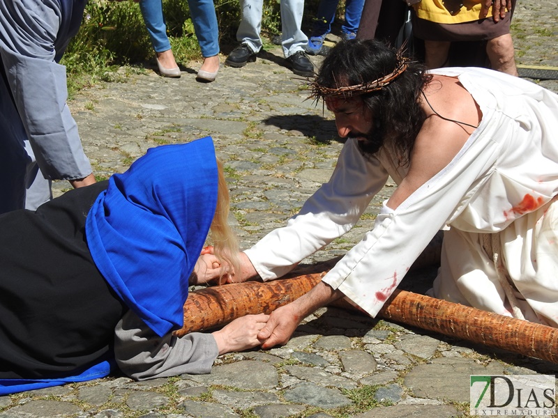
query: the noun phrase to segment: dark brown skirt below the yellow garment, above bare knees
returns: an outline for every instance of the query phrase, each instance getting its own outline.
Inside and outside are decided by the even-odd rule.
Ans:
[[[515,0],[512,0],[511,13],[506,13],[504,19],[494,22],[492,17],[486,17],[472,22],[444,24],[430,22],[416,17],[413,11],[413,34],[422,40],[437,40],[460,42],[467,40],[490,40],[510,33],[510,22],[515,10]]]

